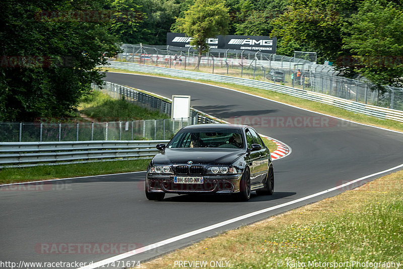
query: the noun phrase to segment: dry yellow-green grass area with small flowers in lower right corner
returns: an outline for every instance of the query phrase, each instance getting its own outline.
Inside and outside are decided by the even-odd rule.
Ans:
[[[175,261],[206,261],[200,267],[213,267],[210,262],[221,261],[232,268],[397,268],[386,262],[402,262],[402,248],[403,170],[142,267],[179,267]]]

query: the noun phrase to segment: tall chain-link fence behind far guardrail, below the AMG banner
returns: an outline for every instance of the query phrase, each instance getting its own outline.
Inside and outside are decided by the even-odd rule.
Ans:
[[[117,60],[195,71],[197,51],[191,47],[123,44]],[[331,66],[306,59],[261,52],[210,49],[203,54],[200,72],[243,77],[314,91],[365,104],[403,110],[403,89],[382,91],[366,80],[338,76]]]

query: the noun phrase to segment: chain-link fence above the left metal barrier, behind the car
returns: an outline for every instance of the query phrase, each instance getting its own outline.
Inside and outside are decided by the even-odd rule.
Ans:
[[[197,117],[111,122],[0,122],[1,142],[168,140]]]

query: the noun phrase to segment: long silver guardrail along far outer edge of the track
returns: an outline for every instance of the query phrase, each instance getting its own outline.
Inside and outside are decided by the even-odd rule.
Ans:
[[[182,78],[191,78],[196,80],[209,80],[215,82],[223,82],[223,83],[231,83],[243,86],[249,86],[254,88],[259,88],[263,90],[270,90],[280,93],[285,93],[291,96],[316,101],[320,103],[325,103],[333,106],[337,106],[346,110],[375,116],[382,119],[392,119],[396,121],[403,122],[403,111],[384,108],[379,106],[373,106],[368,104],[363,104],[360,102],[350,101],[346,99],[342,99],[339,97],[334,97],[322,93],[310,92],[306,90],[300,90],[288,86],[278,85],[270,82],[257,81],[251,79],[237,78],[237,77],[229,77],[208,73],[199,73],[192,71],[184,71],[184,70],[176,70],[169,68],[162,68],[158,66],[152,65],[144,65],[139,63],[131,63],[131,62],[118,62],[118,61],[109,61],[108,65],[104,65],[104,67],[110,67],[115,69],[124,69],[129,71],[137,71],[137,72],[147,72],[153,74],[163,74],[169,76],[176,76]]]

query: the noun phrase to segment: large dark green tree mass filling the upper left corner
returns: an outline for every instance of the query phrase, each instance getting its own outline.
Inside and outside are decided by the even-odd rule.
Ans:
[[[91,12],[101,8],[98,1],[0,2],[0,121],[77,111],[91,83],[102,82],[95,66],[106,63],[103,52],[118,51],[108,14]]]

